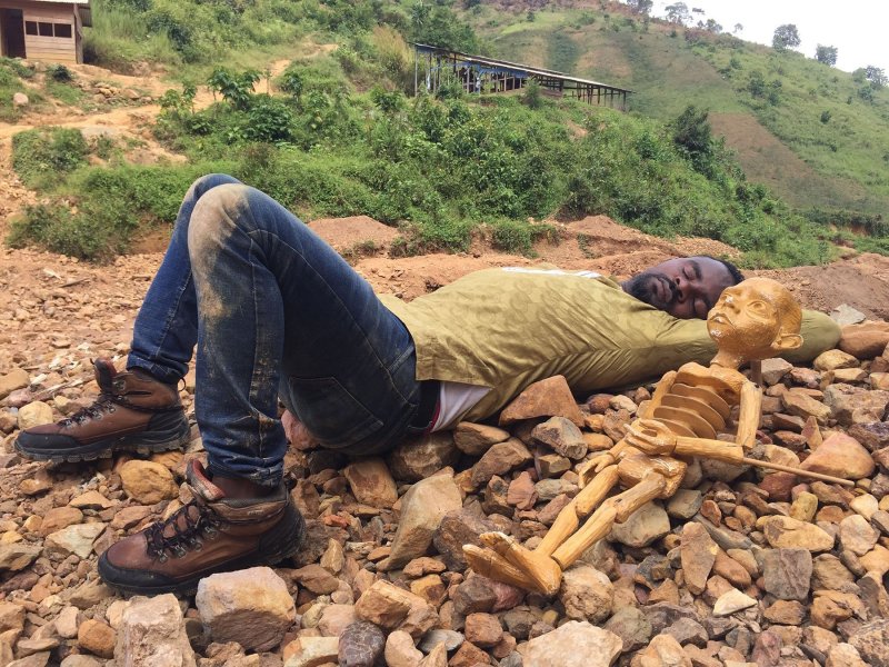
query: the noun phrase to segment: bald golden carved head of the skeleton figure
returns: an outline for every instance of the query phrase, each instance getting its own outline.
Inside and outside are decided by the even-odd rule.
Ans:
[[[720,354],[768,359],[802,345],[802,311],[793,295],[769,278],[749,278],[728,288],[707,318]]]

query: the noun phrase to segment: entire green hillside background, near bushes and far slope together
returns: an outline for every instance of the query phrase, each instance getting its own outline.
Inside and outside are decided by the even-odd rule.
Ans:
[[[801,84],[775,80],[790,78],[791,67],[821,67],[799,57],[700,33],[691,43],[669,26],[591,10],[540,11],[529,21],[527,11],[479,4],[455,13],[447,2],[94,1],[90,58],[124,71],[146,60],[168,69],[171,89],[153,135],[188,161],[130,165],[126,147],[87,142],[77,130],[22,132],[13,167],[41,203],[13,222],[13,245],[108,258],[147,228],[170,223],[196,176],[227,171],[303,219],[364,213],[397,226],[396,248],[406,253],[466,249],[473,233],[531,252],[541,236],[558,241],[553,227],[536,221],[599,213],[660,236],[726,241],[749,267],[823,262],[841,245],[889,251],[883,222],[865,215],[882,210],[885,183],[879,176],[852,180],[870,168],[866,157],[883,150],[875,149],[877,139],[849,155],[839,143],[829,152],[812,145],[819,159],[837,153],[825,167],[759,120],[779,123],[787,115],[795,127]],[[633,110],[550,99],[533,86],[520,96],[479,97],[446,84],[434,97],[411,99],[406,40],[622,84],[638,91]],[[281,57],[290,64],[272,86],[266,68]],[[766,69],[772,61],[777,73]],[[9,89],[27,74],[13,64],[0,62]],[[853,83],[821,69],[838,78],[829,81],[838,91]],[[765,88],[751,88],[751,78]],[[209,108],[194,108],[198,83],[217,96]],[[885,91],[859,97],[848,113],[876,127]],[[796,119],[800,146],[808,146],[808,115]],[[816,122],[836,127],[830,136],[846,147],[858,137],[848,118],[837,111]],[[738,146],[740,165],[713,127]],[[840,166],[845,179],[828,173]],[[829,210],[801,210],[812,206]]]

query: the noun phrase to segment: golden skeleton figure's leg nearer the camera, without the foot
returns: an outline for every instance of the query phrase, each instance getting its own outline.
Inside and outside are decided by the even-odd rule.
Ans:
[[[615,524],[622,524],[646,502],[658,498],[667,482],[663,475],[651,471],[632,488],[606,500],[580,530],[553,551],[552,559],[561,569],[570,567],[583,551],[608,535]]]

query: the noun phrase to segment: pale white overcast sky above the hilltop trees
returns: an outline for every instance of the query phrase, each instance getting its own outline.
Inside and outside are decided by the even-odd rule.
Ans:
[[[678,0],[655,3],[657,17]],[[802,43],[796,49],[813,58],[818,44],[837,47],[837,67],[852,71],[873,64],[889,72],[889,1],[887,0],[685,0],[689,10],[705,10],[731,32],[736,23],[741,39],[771,46],[775,29],[793,23]],[[700,17],[701,14],[692,14]],[[695,21],[697,22],[697,18]]]

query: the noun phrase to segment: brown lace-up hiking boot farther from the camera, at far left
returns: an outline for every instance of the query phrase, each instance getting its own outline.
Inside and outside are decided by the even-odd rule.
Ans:
[[[19,434],[16,449],[40,461],[82,461],[116,451],[167,451],[188,444],[189,426],[173,385],[141,370],[118,372],[97,359],[100,395],[88,408],[56,424]]]

